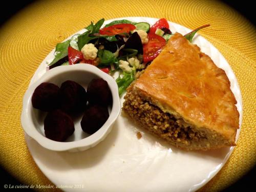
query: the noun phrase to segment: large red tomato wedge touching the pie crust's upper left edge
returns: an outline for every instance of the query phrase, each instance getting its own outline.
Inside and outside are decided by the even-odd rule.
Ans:
[[[147,35],[148,43],[143,45],[143,61],[148,62],[155,59],[165,46],[166,41],[163,37],[149,33]]]

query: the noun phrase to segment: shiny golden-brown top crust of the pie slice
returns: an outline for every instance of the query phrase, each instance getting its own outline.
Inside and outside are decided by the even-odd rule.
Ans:
[[[169,39],[133,89],[163,112],[235,145],[239,113],[225,71],[181,34]]]

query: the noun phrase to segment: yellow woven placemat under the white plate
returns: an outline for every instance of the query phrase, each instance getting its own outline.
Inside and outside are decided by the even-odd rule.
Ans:
[[[256,29],[218,1],[39,1],[12,17],[0,30],[0,163],[25,184],[52,184],[34,163],[20,125],[22,100],[40,62],[60,42],[104,17],[165,17],[200,33],[214,44],[238,78],[243,124],[238,145],[221,171],[200,191],[219,191],[241,178],[256,162]],[[47,189],[45,189],[47,190]]]

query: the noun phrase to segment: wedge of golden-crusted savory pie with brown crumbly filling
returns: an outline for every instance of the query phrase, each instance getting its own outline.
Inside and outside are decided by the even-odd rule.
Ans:
[[[127,88],[124,98],[124,112],[177,147],[235,145],[239,113],[230,82],[208,55],[179,33]]]

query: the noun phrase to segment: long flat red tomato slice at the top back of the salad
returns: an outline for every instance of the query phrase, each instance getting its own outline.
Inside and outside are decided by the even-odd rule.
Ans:
[[[105,27],[103,29],[99,30],[99,33],[101,35],[116,35],[120,33],[129,33],[132,30],[135,30],[136,27],[132,24],[117,24],[117,25],[112,25],[110,27]]]

